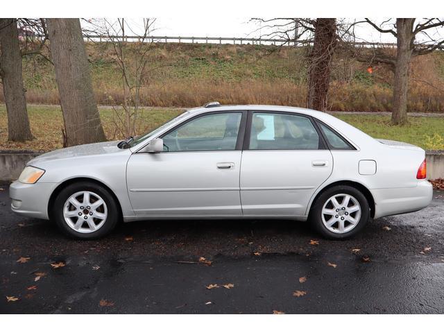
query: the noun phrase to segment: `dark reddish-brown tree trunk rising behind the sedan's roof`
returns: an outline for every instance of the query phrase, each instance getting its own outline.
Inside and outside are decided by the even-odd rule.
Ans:
[[[316,19],[314,44],[310,54],[307,107],[327,110],[330,69],[336,46],[336,19]]]

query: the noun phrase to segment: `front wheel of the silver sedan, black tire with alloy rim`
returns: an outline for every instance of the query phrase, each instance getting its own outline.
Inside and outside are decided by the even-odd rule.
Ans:
[[[120,210],[114,196],[94,182],[75,182],[56,197],[51,220],[67,236],[97,239],[111,232],[119,221]]]

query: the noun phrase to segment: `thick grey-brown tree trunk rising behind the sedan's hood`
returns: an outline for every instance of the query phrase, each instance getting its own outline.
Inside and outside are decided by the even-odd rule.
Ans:
[[[46,19],[68,146],[105,141],[79,19]]]

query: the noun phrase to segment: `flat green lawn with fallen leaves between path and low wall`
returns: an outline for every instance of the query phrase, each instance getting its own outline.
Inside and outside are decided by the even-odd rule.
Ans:
[[[114,134],[113,111],[99,107],[103,128],[108,139],[120,139]],[[145,133],[182,113],[178,108],[144,108],[140,132]],[[8,142],[8,126],[5,105],[0,105],[0,150],[30,149],[51,151],[62,148],[63,119],[59,106],[28,105],[33,141]],[[372,137],[393,139],[415,144],[425,149],[444,149],[443,117],[411,117],[408,126],[391,126],[388,116],[377,114],[338,114],[336,117],[363,130]]]

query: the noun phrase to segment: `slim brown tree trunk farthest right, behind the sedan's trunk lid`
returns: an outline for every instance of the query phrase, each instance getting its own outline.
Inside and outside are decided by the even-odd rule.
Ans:
[[[413,24],[415,19],[396,19],[398,49],[396,51],[395,81],[393,83],[394,125],[407,123],[407,90],[409,89],[409,65],[413,51]]]

